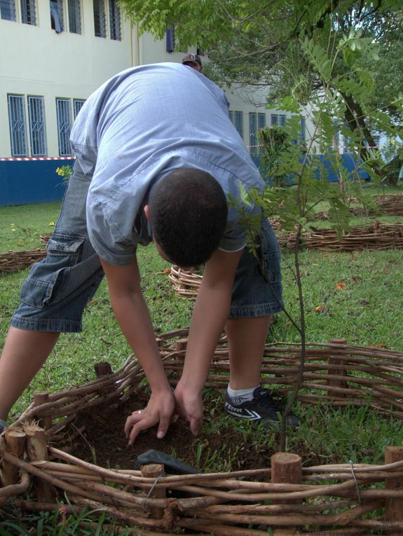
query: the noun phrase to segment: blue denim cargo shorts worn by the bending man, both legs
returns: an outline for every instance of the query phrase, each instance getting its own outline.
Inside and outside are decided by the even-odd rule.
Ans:
[[[87,233],[89,184],[76,162],[55,232],[48,241],[47,256],[29,270],[11,326],[33,331],[81,331],[83,310],[104,276]],[[262,226],[259,245],[261,262],[246,250],[241,258],[231,318],[271,315],[282,309],[280,249],[268,221]]]

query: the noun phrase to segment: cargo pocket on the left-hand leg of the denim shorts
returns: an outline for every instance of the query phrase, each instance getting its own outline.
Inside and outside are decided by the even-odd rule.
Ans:
[[[57,303],[74,291],[74,266],[81,260],[85,237],[54,233],[45,259],[34,264],[22,284],[21,300],[36,308]]]

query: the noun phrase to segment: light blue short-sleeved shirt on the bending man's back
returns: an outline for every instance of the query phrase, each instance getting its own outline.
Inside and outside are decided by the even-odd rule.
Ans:
[[[151,240],[144,204],[152,185],[178,167],[210,173],[227,198],[240,200],[242,188],[264,186],[227,102],[212,81],[177,63],[128,69],[90,95],[71,131],[71,146],[91,181],[88,234],[102,259],[126,265],[137,245]],[[230,207],[220,249],[245,247],[239,220]]]

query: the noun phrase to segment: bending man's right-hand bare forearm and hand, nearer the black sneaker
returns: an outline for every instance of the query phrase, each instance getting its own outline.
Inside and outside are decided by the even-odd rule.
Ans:
[[[197,434],[201,426],[201,392],[228,319],[235,270],[242,253],[214,252],[205,265],[196,298],[184,370],[175,389],[177,411],[189,420],[193,434]]]

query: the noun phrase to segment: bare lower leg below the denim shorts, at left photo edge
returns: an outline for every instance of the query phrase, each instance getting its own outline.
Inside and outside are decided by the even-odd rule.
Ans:
[[[25,331],[11,327],[0,358],[0,419],[8,412],[29,385],[48,355],[59,334],[54,331]]]

